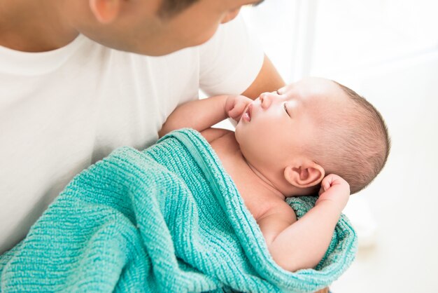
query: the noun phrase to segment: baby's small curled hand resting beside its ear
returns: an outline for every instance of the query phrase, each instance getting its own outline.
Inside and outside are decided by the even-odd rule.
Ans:
[[[319,190],[319,198],[316,200],[315,205],[319,203],[330,201],[339,208],[339,212],[344,210],[350,197],[350,185],[343,178],[338,175],[327,175],[323,182],[321,182],[321,188]]]

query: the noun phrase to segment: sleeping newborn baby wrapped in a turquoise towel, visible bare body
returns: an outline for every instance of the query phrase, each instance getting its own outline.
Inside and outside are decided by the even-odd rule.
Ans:
[[[211,128],[232,118],[236,131]],[[178,128],[201,132],[216,151],[271,257],[288,271],[323,258],[350,193],[379,174],[390,149],[379,112],[353,90],[309,78],[256,100],[219,95],[182,104],[160,137]],[[297,221],[290,196],[319,194]]]

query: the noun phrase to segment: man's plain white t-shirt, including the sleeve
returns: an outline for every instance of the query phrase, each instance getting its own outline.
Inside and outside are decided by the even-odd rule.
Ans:
[[[78,172],[117,147],[153,144],[167,116],[197,99],[199,88],[242,93],[262,62],[241,18],[202,46],[162,57],[82,35],[45,53],[0,46],[0,254]]]

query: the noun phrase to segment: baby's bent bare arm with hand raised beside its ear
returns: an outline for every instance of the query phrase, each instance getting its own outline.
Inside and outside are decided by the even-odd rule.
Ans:
[[[278,213],[259,220],[272,258],[285,270],[313,268],[323,259],[350,196],[350,186],[331,174],[323,179],[319,193],[315,207],[293,224],[288,225],[293,221],[282,219]],[[278,226],[283,229],[278,231]]]

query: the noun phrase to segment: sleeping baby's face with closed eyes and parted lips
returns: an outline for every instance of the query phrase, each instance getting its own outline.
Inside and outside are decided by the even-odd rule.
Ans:
[[[318,139],[323,117],[341,109],[345,94],[333,81],[308,78],[274,93],[263,93],[236,125],[243,156],[259,170],[282,172]]]

